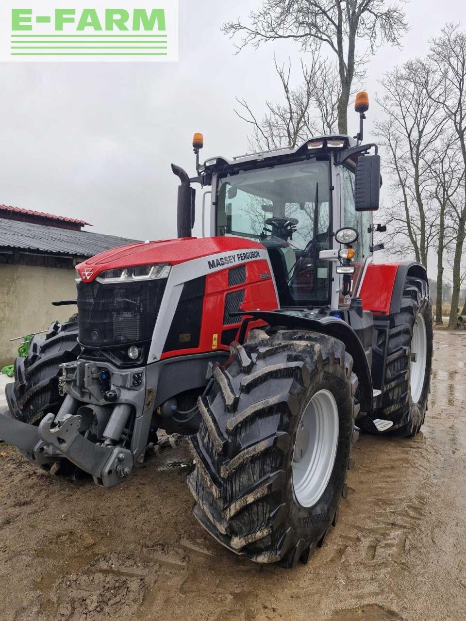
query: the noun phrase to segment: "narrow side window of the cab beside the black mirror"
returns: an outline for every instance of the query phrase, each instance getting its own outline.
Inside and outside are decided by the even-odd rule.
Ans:
[[[354,171],[342,166],[340,175],[343,186],[342,222],[345,227],[353,227],[359,233],[358,241],[354,247],[356,251],[355,261],[365,261],[371,254],[372,211],[357,212],[354,208]]]

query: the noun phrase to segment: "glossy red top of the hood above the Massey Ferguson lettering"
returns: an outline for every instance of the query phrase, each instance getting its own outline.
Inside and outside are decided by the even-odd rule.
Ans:
[[[81,279],[89,283],[105,270],[170,263],[176,265],[201,256],[215,255],[230,250],[263,248],[263,245],[241,237],[183,237],[158,242],[134,243],[101,252],[76,266]],[[83,278],[85,274],[85,278]]]

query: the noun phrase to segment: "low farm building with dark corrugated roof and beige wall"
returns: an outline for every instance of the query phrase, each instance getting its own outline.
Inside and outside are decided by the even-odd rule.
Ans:
[[[75,306],[75,265],[138,240],[83,230],[85,220],[0,205],[0,368],[12,363],[21,341],[9,339],[65,321]]]

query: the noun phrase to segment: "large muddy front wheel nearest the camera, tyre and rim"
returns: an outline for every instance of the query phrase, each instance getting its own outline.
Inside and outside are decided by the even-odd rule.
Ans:
[[[198,402],[203,420],[190,438],[196,468],[188,476],[194,515],[229,550],[295,566],[322,544],[347,494],[357,439],[353,360],[339,340],[303,330],[252,330],[231,351]],[[325,411],[332,402],[336,427],[335,414]],[[319,416],[321,429],[329,423],[324,443],[313,445],[317,432],[303,440],[305,412],[303,424]],[[326,448],[326,439],[334,446]],[[295,446],[301,458],[310,454],[306,446],[316,449],[309,449],[318,467],[308,479],[296,477]]]

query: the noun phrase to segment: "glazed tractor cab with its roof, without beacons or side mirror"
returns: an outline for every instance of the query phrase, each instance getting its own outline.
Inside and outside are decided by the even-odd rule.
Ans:
[[[351,286],[341,283],[339,306],[355,293],[363,265],[370,260],[372,213],[355,210],[356,166],[350,160],[334,163],[336,148],[349,143],[349,138],[318,138],[270,157],[238,158],[212,175],[216,198],[211,233],[252,238],[267,248],[281,307],[337,304],[331,283],[340,275],[333,268],[345,260],[334,261],[329,253],[341,248],[334,232],[346,229],[344,247],[354,250]]]

